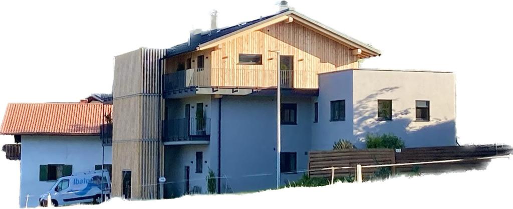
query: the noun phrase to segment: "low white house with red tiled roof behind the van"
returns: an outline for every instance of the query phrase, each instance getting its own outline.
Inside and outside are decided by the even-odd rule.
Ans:
[[[21,144],[19,206],[38,206],[55,180],[76,172],[110,170],[112,149],[105,139],[105,116],[112,105],[88,103],[9,103],[0,134]],[[102,159],[103,158],[103,159]]]

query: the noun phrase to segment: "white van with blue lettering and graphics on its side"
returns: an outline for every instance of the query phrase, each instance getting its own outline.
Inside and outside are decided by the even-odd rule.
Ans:
[[[75,173],[57,179],[51,189],[39,198],[40,206],[47,206],[48,194],[50,194],[54,206],[70,205],[77,203],[100,204],[110,198],[110,176],[107,170],[103,171],[103,196],[100,185],[102,184],[102,171]]]

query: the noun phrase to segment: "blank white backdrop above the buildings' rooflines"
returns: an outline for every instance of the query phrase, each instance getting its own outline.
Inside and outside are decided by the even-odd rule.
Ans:
[[[1,2],[0,118],[8,102],[76,102],[111,92],[115,55],[181,44],[189,30],[208,29],[212,9],[224,27],[275,13],[278,2]],[[460,143],[513,140],[508,1],[290,0],[289,5],[382,51],[361,67],[455,72]],[[0,144],[12,142],[12,136],[0,136]],[[5,160],[0,162],[4,167]],[[4,170],[2,181],[11,173],[17,176],[18,170]],[[17,179],[8,181],[17,187]]]

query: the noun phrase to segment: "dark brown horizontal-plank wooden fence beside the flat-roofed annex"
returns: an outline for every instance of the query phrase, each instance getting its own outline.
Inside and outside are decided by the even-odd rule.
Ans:
[[[331,167],[378,165],[410,162],[427,162],[438,160],[469,159],[460,162],[435,163],[423,165],[397,166],[391,172],[406,174],[413,172],[416,167],[421,173],[443,173],[448,171],[462,171],[471,169],[484,169],[490,161],[471,160],[479,157],[507,155],[512,153],[509,145],[466,145],[450,147],[406,148],[392,149],[366,149],[366,150],[332,150],[315,151],[309,153],[308,170],[310,177],[331,177],[331,170],[319,170]],[[377,168],[363,168],[364,179],[374,175]],[[334,170],[336,177],[354,176],[353,169]]]

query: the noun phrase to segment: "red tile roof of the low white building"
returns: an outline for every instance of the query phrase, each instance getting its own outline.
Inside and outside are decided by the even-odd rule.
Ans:
[[[102,103],[9,103],[0,134],[8,135],[100,135],[105,123]]]

